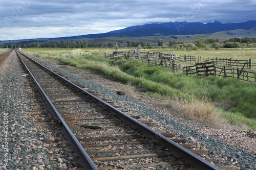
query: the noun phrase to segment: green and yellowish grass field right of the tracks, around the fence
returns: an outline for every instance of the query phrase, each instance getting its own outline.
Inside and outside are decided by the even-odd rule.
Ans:
[[[236,79],[220,77],[183,77],[182,74],[173,74],[164,67],[152,65],[133,59],[122,57],[115,60],[104,58],[104,53],[111,53],[113,49],[85,48],[71,49],[29,49],[33,51],[49,52],[72,51],[70,55],[49,57],[32,51],[27,51],[39,58],[48,57],[62,63],[83,69],[95,69],[110,75],[125,83],[135,84],[150,91],[149,95],[165,98],[168,106],[177,108],[179,112],[197,117],[200,121],[209,123],[218,122],[225,117],[230,123],[245,124],[256,130],[256,83],[243,82]],[[56,50],[56,51],[55,51]],[[145,49],[149,50],[149,49]],[[164,51],[166,50],[166,51]],[[119,50],[121,51],[121,50]],[[142,51],[142,49],[141,49]],[[86,52],[77,56],[77,52]],[[208,55],[212,57],[255,59],[255,49],[227,49],[227,50],[200,50],[200,51],[171,51],[171,49],[153,49],[151,52],[173,52],[177,55]],[[223,52],[223,53],[222,53]],[[240,54],[240,55],[238,55]],[[232,56],[231,56],[232,55]],[[243,58],[242,58],[243,57]],[[255,59],[256,60],[256,59]],[[216,119],[216,118],[219,119]]]

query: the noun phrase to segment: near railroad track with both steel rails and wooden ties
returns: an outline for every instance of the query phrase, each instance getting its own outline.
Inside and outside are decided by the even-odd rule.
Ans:
[[[184,148],[195,146],[182,147],[185,140],[148,128],[153,125],[145,119],[136,117],[139,122],[24,54],[16,54],[29,69],[84,169],[220,169],[195,154],[205,152]]]

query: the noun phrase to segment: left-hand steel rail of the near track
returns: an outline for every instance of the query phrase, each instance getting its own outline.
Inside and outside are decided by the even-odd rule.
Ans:
[[[17,51],[15,51],[15,52],[17,54]],[[20,54],[22,54],[22,53],[20,53]],[[18,54],[17,54],[17,56],[18,56]],[[36,81],[36,79],[34,78],[32,73],[30,72],[29,68],[26,66],[26,64],[20,57],[19,57],[19,59],[20,59],[20,61],[22,61],[23,65],[25,66],[26,70],[28,71],[29,76],[31,77],[32,81],[35,83],[36,88],[38,89],[42,98],[46,102],[49,110],[53,114],[53,117],[56,120],[58,120],[60,129],[61,129],[62,133],[64,134],[64,136],[67,138],[69,144],[71,145],[72,150],[78,155],[78,159],[79,159],[79,162],[81,163],[82,168],[84,170],[88,170],[88,169],[97,170],[98,169],[97,166],[91,160],[90,156],[86,153],[86,151],[83,149],[82,145],[77,140],[77,138],[75,137],[75,135],[73,134],[73,132],[71,131],[71,129],[69,128],[69,126],[67,125],[65,120],[62,118],[62,116],[59,114],[59,112],[55,108],[55,106],[52,104],[51,100],[48,98],[45,91],[41,88],[39,83]]]

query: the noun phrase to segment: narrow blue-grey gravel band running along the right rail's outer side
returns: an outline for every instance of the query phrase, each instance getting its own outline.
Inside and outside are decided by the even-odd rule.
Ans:
[[[51,65],[40,59],[35,59],[59,72],[66,78],[78,82],[79,84],[88,88],[88,90],[100,93],[103,98],[110,99],[114,103],[122,104],[125,109],[138,112],[142,117],[149,117],[159,125],[161,124],[165,130],[170,130],[170,132],[178,134],[178,136],[181,138],[187,139],[188,142],[191,142],[195,145],[200,145],[201,148],[206,148],[209,153],[206,158],[218,157],[219,161],[222,162],[221,165],[236,165],[241,169],[256,169],[255,154],[248,152],[244,148],[234,147],[233,145],[227,144],[220,139],[210,137],[210,135],[200,133],[197,129],[205,128],[203,126],[199,125],[196,127],[190,127],[184,125],[180,123],[179,120],[177,120],[173,115],[168,115],[162,113],[161,111],[154,111],[147,105],[140,103],[127,95],[118,95],[116,94],[116,91],[111,91],[104,88],[102,85],[97,85],[93,82],[81,79],[66,70],[55,67],[54,65]],[[227,131],[227,133],[228,132],[229,131]],[[252,137],[255,138],[255,136]]]

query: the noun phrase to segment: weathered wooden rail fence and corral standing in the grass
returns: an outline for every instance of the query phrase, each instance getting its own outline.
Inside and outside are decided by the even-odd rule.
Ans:
[[[134,57],[136,60],[146,60],[148,63],[152,63],[156,66],[164,66],[172,69],[173,72],[182,70],[183,75],[186,76],[220,76],[224,78],[237,78],[244,81],[256,82],[256,72],[246,71],[247,69],[256,68],[256,63],[252,63],[252,60],[232,60],[231,58],[214,58],[202,61],[202,57],[198,57],[198,63],[196,62],[196,56],[180,56],[176,57],[174,53],[149,53],[139,52],[138,50],[132,50],[129,52],[115,52],[110,55],[109,58],[115,58],[119,56],[125,56],[126,58]],[[200,62],[199,62],[200,61]],[[186,66],[181,68],[177,63],[195,63],[193,66]],[[223,66],[223,67],[221,67]]]

